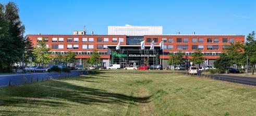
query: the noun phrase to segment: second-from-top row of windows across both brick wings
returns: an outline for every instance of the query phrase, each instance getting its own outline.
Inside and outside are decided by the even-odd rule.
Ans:
[[[48,45],[46,45],[48,48]],[[223,46],[223,49],[227,45]],[[79,45],[67,45],[67,49],[78,49]],[[82,49],[93,49],[94,45],[82,45]],[[202,45],[192,45],[192,50],[203,50]],[[64,49],[64,45],[52,45],[52,49]],[[107,45],[97,45],[97,49],[107,49]],[[164,49],[173,50],[173,45],[164,45]],[[218,50],[218,45],[208,45],[207,50]],[[177,45],[177,50],[188,50],[188,45]]]

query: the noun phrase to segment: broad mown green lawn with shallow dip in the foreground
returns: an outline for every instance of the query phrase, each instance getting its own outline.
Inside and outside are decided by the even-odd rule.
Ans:
[[[106,70],[0,88],[0,115],[256,115],[255,86],[147,72],[172,71]]]

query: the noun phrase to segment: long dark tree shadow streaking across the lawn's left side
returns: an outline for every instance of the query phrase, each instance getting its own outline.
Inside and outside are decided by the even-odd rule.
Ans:
[[[95,82],[95,77],[72,78],[69,80]],[[118,104],[127,105],[130,100],[144,103],[151,96],[135,97],[119,93],[106,92],[105,90],[87,88],[62,80],[50,80],[39,83],[30,83],[19,86],[0,89],[0,106],[33,107],[42,106],[63,109],[72,106]],[[27,110],[26,110],[27,111]],[[5,115],[27,114],[31,111],[16,112],[12,110],[1,110]],[[47,112],[34,112],[35,114],[46,114]],[[51,114],[51,113],[49,113]]]

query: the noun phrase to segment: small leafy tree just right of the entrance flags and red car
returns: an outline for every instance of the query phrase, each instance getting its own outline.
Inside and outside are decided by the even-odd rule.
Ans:
[[[185,62],[185,58],[183,53],[177,52],[175,54],[170,54],[169,59],[167,61],[168,65],[182,65]]]

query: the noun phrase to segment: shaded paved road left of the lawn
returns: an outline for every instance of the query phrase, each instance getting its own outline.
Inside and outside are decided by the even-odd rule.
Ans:
[[[64,72],[35,72],[31,74],[0,75],[0,87],[44,81],[48,79],[76,77],[79,75],[87,75],[87,73],[88,72],[86,70],[72,70],[69,74]]]

